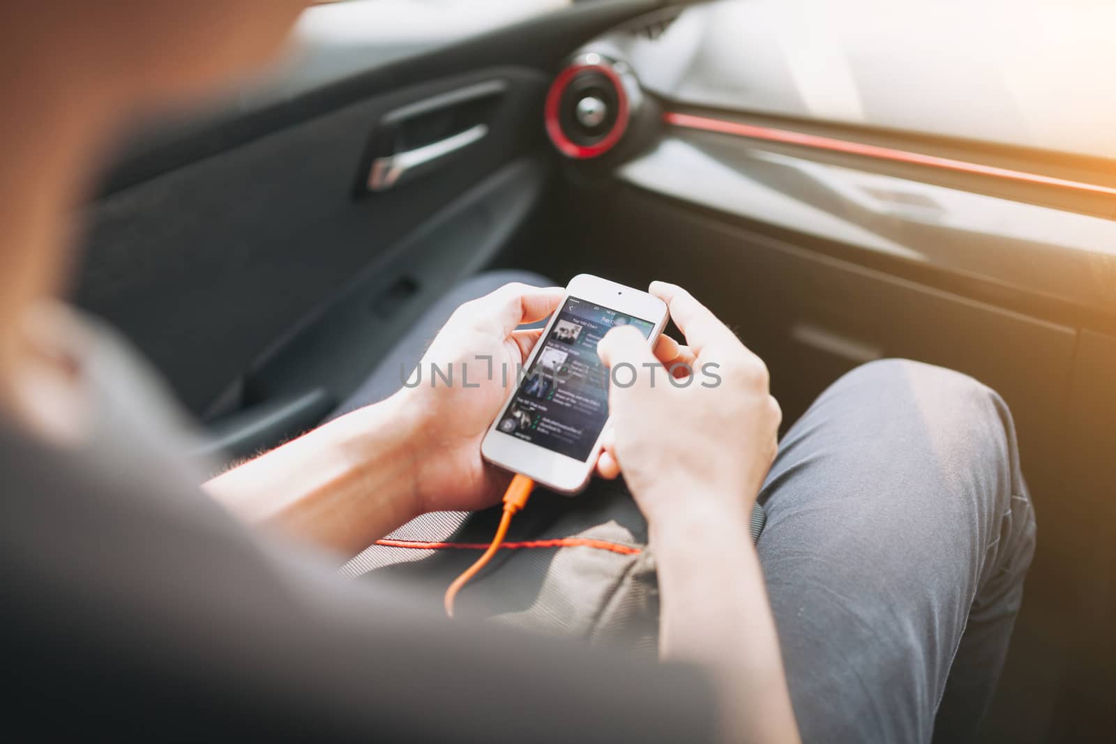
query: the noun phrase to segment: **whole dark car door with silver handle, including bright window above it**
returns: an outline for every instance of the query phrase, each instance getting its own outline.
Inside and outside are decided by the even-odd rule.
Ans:
[[[310,8],[280,69],[121,143],[86,210],[77,302],[223,453],[305,431],[424,307],[521,239],[552,171],[550,76],[657,4]]]

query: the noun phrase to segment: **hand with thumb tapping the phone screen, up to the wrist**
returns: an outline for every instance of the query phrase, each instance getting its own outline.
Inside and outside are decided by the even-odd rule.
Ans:
[[[633,328],[602,339],[598,352],[609,368],[627,363],[637,374],[628,387],[609,387],[612,425],[599,470],[624,473],[653,526],[681,512],[720,520],[738,514],[747,524],[782,416],[767,366],[686,290],[652,282],[650,291],[667,303],[686,346],[660,339],[664,369]],[[676,348],[664,350],[671,345]],[[667,369],[679,375],[685,366],[693,370],[689,381],[668,379]],[[616,379],[626,383],[629,371]]]

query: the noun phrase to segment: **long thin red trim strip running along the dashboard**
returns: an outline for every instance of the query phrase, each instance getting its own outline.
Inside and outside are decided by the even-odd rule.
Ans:
[[[911,165],[923,165],[926,167],[954,171],[956,173],[968,173],[971,175],[991,176],[993,178],[1004,178],[1020,183],[1037,184],[1040,186],[1056,186],[1058,189],[1070,189],[1084,191],[1091,194],[1103,194],[1105,196],[1116,196],[1116,189],[1109,186],[1098,186],[1080,181],[1067,181],[1066,178],[1055,178],[1052,176],[1039,175],[1037,173],[1024,173],[1010,168],[1000,168],[992,165],[981,165],[979,163],[968,163],[955,161],[949,157],[937,157],[936,155],[924,155],[912,153],[905,149],[893,149],[891,147],[878,147],[866,145],[859,142],[847,139],[834,139],[833,137],[821,137],[789,129],[776,129],[772,127],[757,126],[753,124],[741,124],[740,122],[725,122],[708,116],[694,116],[692,114],[680,114],[677,112],[666,112],[663,114],[663,122],[672,126],[687,129],[701,129],[703,132],[718,132],[737,137],[748,137],[749,139],[762,139],[764,142],[779,142],[788,145],[800,145],[814,149],[826,149],[834,153],[847,153],[849,155],[863,155],[877,160],[893,161],[896,163],[907,163]]]

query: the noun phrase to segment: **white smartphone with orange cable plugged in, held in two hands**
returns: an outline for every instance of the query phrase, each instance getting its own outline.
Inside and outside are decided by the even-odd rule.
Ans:
[[[631,385],[648,369],[609,371],[597,341],[615,326],[633,326],[653,345],[666,326],[666,303],[647,292],[578,274],[492,422],[481,455],[554,491],[574,494],[593,475],[608,422],[608,385]],[[512,378],[514,377],[514,379]]]

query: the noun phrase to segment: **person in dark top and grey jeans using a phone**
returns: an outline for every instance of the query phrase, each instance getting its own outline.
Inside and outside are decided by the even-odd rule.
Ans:
[[[161,740],[970,733],[1033,549],[1007,408],[961,375],[876,364],[830,388],[777,454],[762,361],[672,284],[651,291],[686,345],[663,338],[652,356],[619,328],[600,346],[608,365],[722,370],[716,388],[641,378],[610,393],[614,438],[598,470],[623,472],[647,520],[661,667],[448,625],[408,611],[405,596],[339,583],[296,545],[352,555],[419,514],[497,503],[508,474],[480,458],[506,395],[496,383],[357,408],[208,483],[227,511],[199,493],[166,444],[173,414],[157,387],[118,342],[51,302],[67,214],[122,113],[266,59],[302,4],[0,7],[9,726]],[[517,327],[559,299],[508,284],[466,302],[427,359],[513,366],[538,339]],[[748,533],[757,499],[769,511],[759,552]]]

